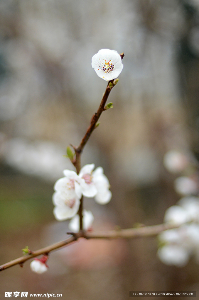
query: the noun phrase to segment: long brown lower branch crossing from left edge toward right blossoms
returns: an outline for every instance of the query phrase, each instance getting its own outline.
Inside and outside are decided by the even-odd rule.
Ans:
[[[63,246],[66,246],[67,244],[70,244],[74,241],[76,241],[80,237],[84,237],[87,239],[90,238],[136,238],[136,237],[143,237],[143,236],[153,236],[157,235],[158,233],[172,228],[177,228],[178,226],[172,226],[169,224],[159,224],[154,226],[144,226],[139,228],[129,228],[129,229],[121,229],[121,230],[110,230],[110,231],[99,231],[99,232],[78,232],[78,233],[72,233],[72,236],[67,238],[64,241],[60,241],[56,244],[53,244],[51,246],[36,250],[32,252],[32,254],[27,254],[25,256],[21,256],[17,259],[11,260],[10,262],[5,263],[4,265],[0,266],[0,271],[5,270],[7,268],[10,268],[14,265],[21,265],[26,260],[31,259],[35,256],[39,256],[41,254],[48,254],[49,252],[59,249]]]

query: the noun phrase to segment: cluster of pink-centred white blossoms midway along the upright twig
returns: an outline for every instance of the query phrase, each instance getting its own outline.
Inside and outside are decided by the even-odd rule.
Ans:
[[[81,196],[93,198],[99,204],[111,200],[109,180],[103,173],[103,168],[88,164],[81,168],[79,174],[64,170],[65,177],[60,178],[54,185],[53,210],[57,220],[67,220],[75,216],[79,210]]]

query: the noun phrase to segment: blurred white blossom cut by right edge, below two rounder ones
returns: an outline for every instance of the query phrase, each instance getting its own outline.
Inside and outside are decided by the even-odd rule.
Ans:
[[[178,205],[185,208],[191,220],[199,222],[199,198],[198,197],[183,197],[178,201]]]

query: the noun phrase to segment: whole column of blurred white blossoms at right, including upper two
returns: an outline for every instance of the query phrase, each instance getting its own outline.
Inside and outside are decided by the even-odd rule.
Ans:
[[[190,158],[176,150],[167,152],[163,163],[171,173],[186,172],[186,168],[192,168]],[[165,211],[164,222],[179,227],[165,230],[158,235],[160,246],[157,254],[165,264],[183,267],[191,255],[195,255],[199,262],[199,198],[195,196],[198,194],[196,174],[178,177],[174,182],[174,189],[184,197],[177,205]]]

